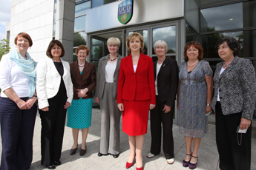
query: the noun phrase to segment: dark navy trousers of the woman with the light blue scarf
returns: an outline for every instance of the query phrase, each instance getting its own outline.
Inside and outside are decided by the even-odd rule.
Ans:
[[[27,98],[21,98],[26,101]],[[21,110],[10,100],[0,97],[1,170],[27,170],[33,157],[33,132],[37,106]]]

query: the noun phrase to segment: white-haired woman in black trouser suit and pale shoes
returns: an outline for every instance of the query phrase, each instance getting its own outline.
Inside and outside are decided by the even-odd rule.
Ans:
[[[178,87],[177,61],[166,58],[168,47],[165,41],[159,40],[154,44],[157,61],[154,61],[154,77],[156,84],[156,107],[151,109],[151,151],[148,158],[161,152],[161,135],[163,123],[163,152],[167,163],[174,163],[174,139],[172,123],[174,104]]]

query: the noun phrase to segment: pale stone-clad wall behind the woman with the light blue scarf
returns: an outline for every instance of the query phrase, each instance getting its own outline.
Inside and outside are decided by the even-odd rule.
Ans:
[[[54,0],[13,0],[10,18],[10,47],[15,49],[14,38],[19,33],[28,33],[33,46],[28,50],[38,61],[45,56],[53,38]]]

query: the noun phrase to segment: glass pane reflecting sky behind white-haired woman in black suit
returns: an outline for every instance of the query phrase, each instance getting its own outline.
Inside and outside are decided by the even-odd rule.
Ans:
[[[154,52],[154,44],[158,40],[163,40],[168,46],[167,54],[176,52],[176,26],[160,27],[153,29],[152,54]]]

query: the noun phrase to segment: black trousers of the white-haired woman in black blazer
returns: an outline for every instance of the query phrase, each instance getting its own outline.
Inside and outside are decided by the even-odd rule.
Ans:
[[[174,157],[174,138],[172,135],[172,123],[174,118],[174,107],[168,113],[163,112],[165,103],[156,96],[156,107],[151,109],[151,154],[160,154],[163,124],[163,153],[166,159]],[[173,105],[174,106],[174,105]]]

